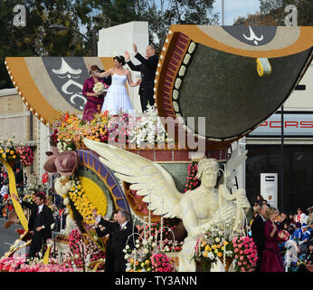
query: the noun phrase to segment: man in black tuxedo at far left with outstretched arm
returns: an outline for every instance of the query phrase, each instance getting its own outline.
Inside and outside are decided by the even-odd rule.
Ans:
[[[47,239],[52,237],[51,225],[53,223],[52,210],[44,204],[44,195],[35,195],[34,204],[22,201],[15,194],[13,197],[22,207],[31,209],[31,216],[28,221],[28,230],[33,235],[28,258],[37,256],[46,246]],[[44,254],[42,252],[42,254]]]

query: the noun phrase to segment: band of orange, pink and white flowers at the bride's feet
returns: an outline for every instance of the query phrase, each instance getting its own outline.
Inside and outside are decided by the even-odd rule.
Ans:
[[[87,122],[66,112],[52,124],[51,137],[60,152],[80,148],[84,138],[113,145],[132,143],[134,148],[172,141],[157,116],[156,105],[148,105],[147,111],[140,116],[123,112],[112,116],[105,111]]]

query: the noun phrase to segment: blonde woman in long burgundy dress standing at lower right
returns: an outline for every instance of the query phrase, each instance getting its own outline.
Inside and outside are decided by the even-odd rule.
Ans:
[[[265,237],[265,247],[263,251],[260,272],[284,272],[284,266],[280,256],[279,229],[275,221],[280,211],[277,208],[269,208],[270,218],[264,224],[263,232]]]

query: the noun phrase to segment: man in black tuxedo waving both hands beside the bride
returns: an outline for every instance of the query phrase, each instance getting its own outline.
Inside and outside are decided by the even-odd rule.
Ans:
[[[158,56],[156,54],[156,46],[154,44],[147,45],[146,58],[138,53],[137,45],[134,43],[135,58],[138,59],[140,64],[135,65],[130,61],[128,52],[125,52],[125,60],[128,63],[129,68],[132,71],[140,72],[142,75],[142,81],[139,86],[139,96],[141,102],[142,111],[147,111],[147,102],[150,105],[155,103],[154,85],[156,77],[156,67],[158,63]]]

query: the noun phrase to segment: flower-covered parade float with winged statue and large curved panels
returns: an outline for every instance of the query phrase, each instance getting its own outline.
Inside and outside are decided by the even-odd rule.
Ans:
[[[287,100],[312,61],[312,36],[312,27],[300,26],[172,25],[157,64],[156,105],[90,122],[81,121],[87,64],[108,69],[112,59],[7,57],[25,106],[51,129],[44,168],[62,175],[55,189],[68,214],[57,247],[71,248],[78,231],[83,245],[103,252],[106,240],[92,227],[92,210],[111,218],[122,208],[140,229],[131,237],[136,249],[125,249],[128,271],[253,271],[250,204],[233,184],[247,152],[230,145]],[[16,192],[14,179],[10,191]],[[14,208],[27,231],[22,208],[16,202]],[[6,266],[16,262],[13,253]],[[75,269],[86,269],[81,253],[82,246],[67,254],[81,261],[71,264]],[[90,255],[95,270],[103,256],[90,262]],[[43,265],[53,263],[46,256]]]

